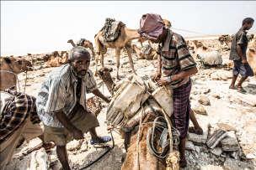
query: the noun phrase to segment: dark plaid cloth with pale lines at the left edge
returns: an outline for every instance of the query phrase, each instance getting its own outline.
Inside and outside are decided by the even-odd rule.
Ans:
[[[11,136],[19,126],[22,126],[29,114],[32,123],[40,123],[35,108],[35,97],[14,90],[5,91],[12,97],[3,106],[0,115],[0,143]]]

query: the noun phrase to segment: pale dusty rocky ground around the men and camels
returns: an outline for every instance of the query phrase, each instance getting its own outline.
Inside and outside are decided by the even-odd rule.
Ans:
[[[210,44],[216,49],[221,50],[221,45],[217,44],[216,40],[205,40],[205,43]],[[222,48],[223,49],[223,48]],[[227,59],[228,51],[221,51],[223,60]],[[128,62],[127,56],[122,54],[120,59],[120,76],[125,78],[127,75],[131,74],[131,66]],[[135,69],[137,74],[143,77],[150,77],[154,73],[154,60],[137,60],[136,55],[133,56]],[[116,73],[116,65],[114,52],[109,50],[108,56],[104,58],[105,65],[112,67],[114,71],[112,72],[113,77]],[[228,165],[231,162],[234,165],[234,161],[230,161],[230,157],[225,156],[215,156],[211,151],[205,147],[205,144],[200,144],[195,146],[195,151],[186,151],[188,159],[188,167],[186,169],[256,169],[256,77],[251,77],[247,82],[244,83],[245,90],[248,90],[248,94],[243,95],[238,93],[236,90],[229,90],[228,86],[231,82],[232,70],[227,70],[223,68],[202,68],[199,64],[199,73],[195,75],[193,80],[193,88],[191,92],[191,106],[197,107],[200,95],[205,95],[210,101],[210,106],[204,106],[207,115],[196,115],[198,121],[202,126],[206,124],[211,125],[211,130],[220,128],[218,125],[224,123],[236,131],[238,142],[243,152],[242,160],[245,163],[244,166],[231,167]],[[54,68],[45,68],[35,71],[30,71],[28,73],[28,80],[26,82],[25,92],[29,95],[36,96],[40,84],[45,80],[45,75],[47,75]],[[95,66],[92,62],[91,70],[95,70]],[[223,75],[224,76],[223,78]],[[24,90],[24,79],[25,75],[20,74],[20,89]],[[219,80],[218,80],[219,79]],[[96,77],[97,82],[101,82],[99,78]],[[116,81],[116,80],[115,80]],[[104,94],[109,95],[108,90],[105,86],[100,86],[99,90],[102,90]],[[216,97],[217,96],[217,97]],[[105,111],[107,105],[104,103],[104,109],[98,116],[100,126],[97,128],[99,135],[107,135],[105,121]],[[190,123],[191,125],[191,123]],[[205,130],[205,129],[204,129]],[[95,163],[92,167],[88,169],[120,169],[121,167],[121,157],[124,155],[123,141],[120,136],[114,131],[113,135],[115,137],[115,148],[107,154],[106,157],[101,159],[101,161]],[[86,135],[86,139],[82,147],[77,147],[73,151],[69,151],[69,161],[73,169],[80,169],[85,166],[88,162],[92,161],[96,157],[104,152],[103,149],[95,149],[88,144],[89,136]],[[17,149],[15,152],[13,162],[8,166],[8,169],[27,169],[29,167],[30,157],[34,152],[26,157],[21,157],[20,153],[25,149],[38,143],[38,140],[31,141],[29,144],[24,143],[22,147]],[[111,143],[109,143],[111,144]],[[77,146],[75,144],[75,146]],[[43,150],[40,150],[43,152]],[[35,154],[35,153],[34,153]],[[56,160],[56,151],[53,149],[51,156],[51,162],[53,162],[53,169],[59,169],[60,164]],[[31,166],[31,165],[30,165]]]

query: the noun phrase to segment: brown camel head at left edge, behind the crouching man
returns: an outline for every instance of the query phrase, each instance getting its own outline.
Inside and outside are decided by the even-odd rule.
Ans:
[[[21,57],[3,57],[1,59],[1,70],[10,70],[15,74],[19,74],[23,71],[31,71],[32,64]]]

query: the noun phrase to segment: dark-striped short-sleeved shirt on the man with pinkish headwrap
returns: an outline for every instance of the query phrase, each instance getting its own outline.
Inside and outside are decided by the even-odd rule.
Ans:
[[[178,33],[173,33],[170,29],[168,30],[167,39],[162,45],[159,45],[158,50],[162,58],[163,77],[168,78],[181,71],[196,67],[195,60],[189,53],[184,38]],[[172,81],[170,85],[175,89],[186,84],[188,81],[189,77]]]

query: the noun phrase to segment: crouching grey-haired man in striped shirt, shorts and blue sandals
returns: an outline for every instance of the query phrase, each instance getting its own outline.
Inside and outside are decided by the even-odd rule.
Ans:
[[[88,70],[89,64],[87,49],[74,47],[69,63],[51,71],[36,99],[38,115],[45,127],[45,142],[55,142],[57,156],[65,170],[70,169],[67,142],[83,139],[83,133],[88,131],[92,137],[91,144],[111,140],[110,137],[97,135],[95,127],[99,126],[99,121],[86,107],[88,92],[109,103],[109,98],[97,88],[93,73]]]

